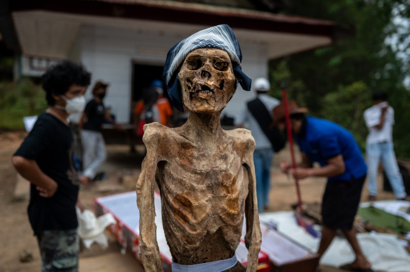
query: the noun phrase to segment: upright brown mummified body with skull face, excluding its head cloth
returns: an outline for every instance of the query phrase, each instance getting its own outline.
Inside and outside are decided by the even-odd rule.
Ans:
[[[183,104],[190,110],[188,121],[178,128],[158,123],[144,127],[147,155],[137,182],[144,267],[162,270],[154,223],[156,182],[173,262],[192,265],[231,258],[245,213],[247,270],[256,271],[260,228],[255,142],[249,130],[224,131],[220,126],[221,111],[235,93],[230,57],[220,49],[196,49],[183,61],[178,78]],[[229,269],[242,270],[239,262]]]

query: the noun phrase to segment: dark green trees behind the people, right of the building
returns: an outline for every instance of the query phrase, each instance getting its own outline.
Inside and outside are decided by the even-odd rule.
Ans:
[[[395,22],[397,16],[410,17],[406,2],[291,0],[284,13],[332,20],[354,27],[355,34],[337,39],[331,47],[271,61],[271,82],[288,82],[289,99],[308,107],[313,116],[350,129],[362,148],[368,133],[363,111],[372,105],[371,94],[388,93],[395,109],[396,154],[410,157],[410,90],[403,84],[410,68],[405,58],[398,57],[410,52],[410,24],[403,27]],[[395,38],[403,46],[386,42]],[[274,88],[271,95],[280,97]]]

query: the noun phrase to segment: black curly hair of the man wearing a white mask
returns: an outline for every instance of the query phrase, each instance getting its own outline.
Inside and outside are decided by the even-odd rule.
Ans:
[[[42,76],[47,104],[55,104],[52,95],[64,95],[72,84],[87,87],[90,80],[91,73],[80,63],[65,60],[50,66]]]

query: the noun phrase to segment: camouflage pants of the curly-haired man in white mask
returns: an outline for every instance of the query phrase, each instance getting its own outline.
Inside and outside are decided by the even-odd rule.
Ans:
[[[37,235],[42,272],[77,272],[79,240],[77,230],[43,231]]]

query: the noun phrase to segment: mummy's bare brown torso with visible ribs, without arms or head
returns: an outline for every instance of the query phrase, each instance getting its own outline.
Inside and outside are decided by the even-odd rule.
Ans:
[[[220,259],[221,255],[232,257],[240,242],[248,194],[245,148],[230,133],[212,149],[177,133],[167,134],[158,143],[161,151],[156,178],[173,258],[191,264]],[[213,250],[212,243],[221,248]],[[215,251],[215,257],[212,252],[204,255],[204,251]],[[211,260],[201,260],[203,256]]]

